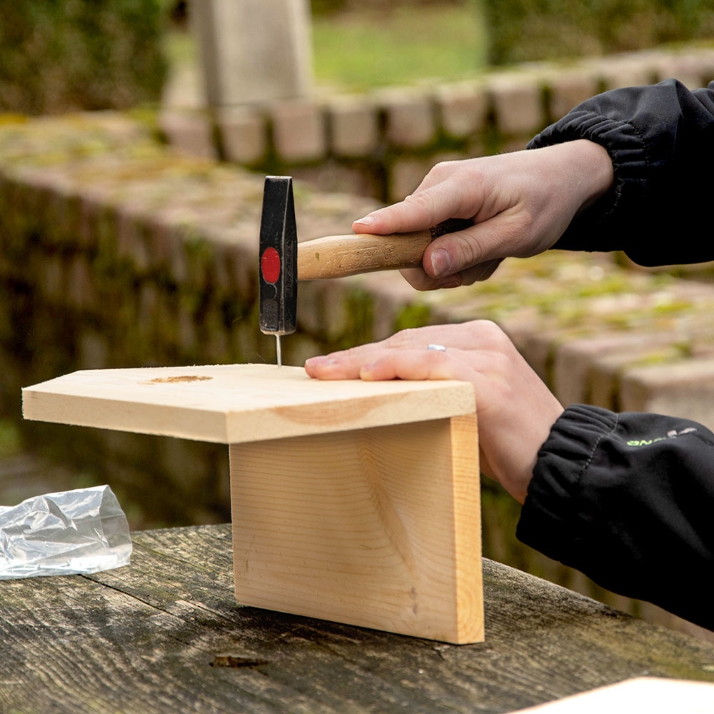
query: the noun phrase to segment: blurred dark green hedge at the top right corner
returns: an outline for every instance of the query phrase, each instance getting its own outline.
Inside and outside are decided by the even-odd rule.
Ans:
[[[714,0],[483,0],[491,64],[710,38]]]

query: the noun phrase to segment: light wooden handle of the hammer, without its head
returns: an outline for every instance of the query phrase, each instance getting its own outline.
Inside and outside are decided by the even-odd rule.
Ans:
[[[325,236],[298,243],[298,280],[343,278],[358,273],[421,266],[421,258],[434,238],[461,231],[473,221],[460,218],[439,223],[428,231],[376,236],[357,233]]]

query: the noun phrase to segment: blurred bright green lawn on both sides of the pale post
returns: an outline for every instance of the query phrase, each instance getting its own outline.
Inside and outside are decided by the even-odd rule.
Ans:
[[[473,0],[315,16],[313,66],[318,92],[457,80],[486,66],[486,31]],[[166,54],[174,69],[196,66],[191,36],[171,31]]]

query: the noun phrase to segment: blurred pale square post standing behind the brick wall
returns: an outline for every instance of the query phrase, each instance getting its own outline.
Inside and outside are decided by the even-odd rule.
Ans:
[[[306,96],[309,0],[199,0],[191,5],[208,106]]]

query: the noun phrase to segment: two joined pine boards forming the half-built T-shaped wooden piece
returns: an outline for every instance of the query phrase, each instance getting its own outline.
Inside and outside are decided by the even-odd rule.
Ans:
[[[318,381],[302,368],[81,371],[26,418],[230,445],[241,603],[483,639],[473,386]]]

